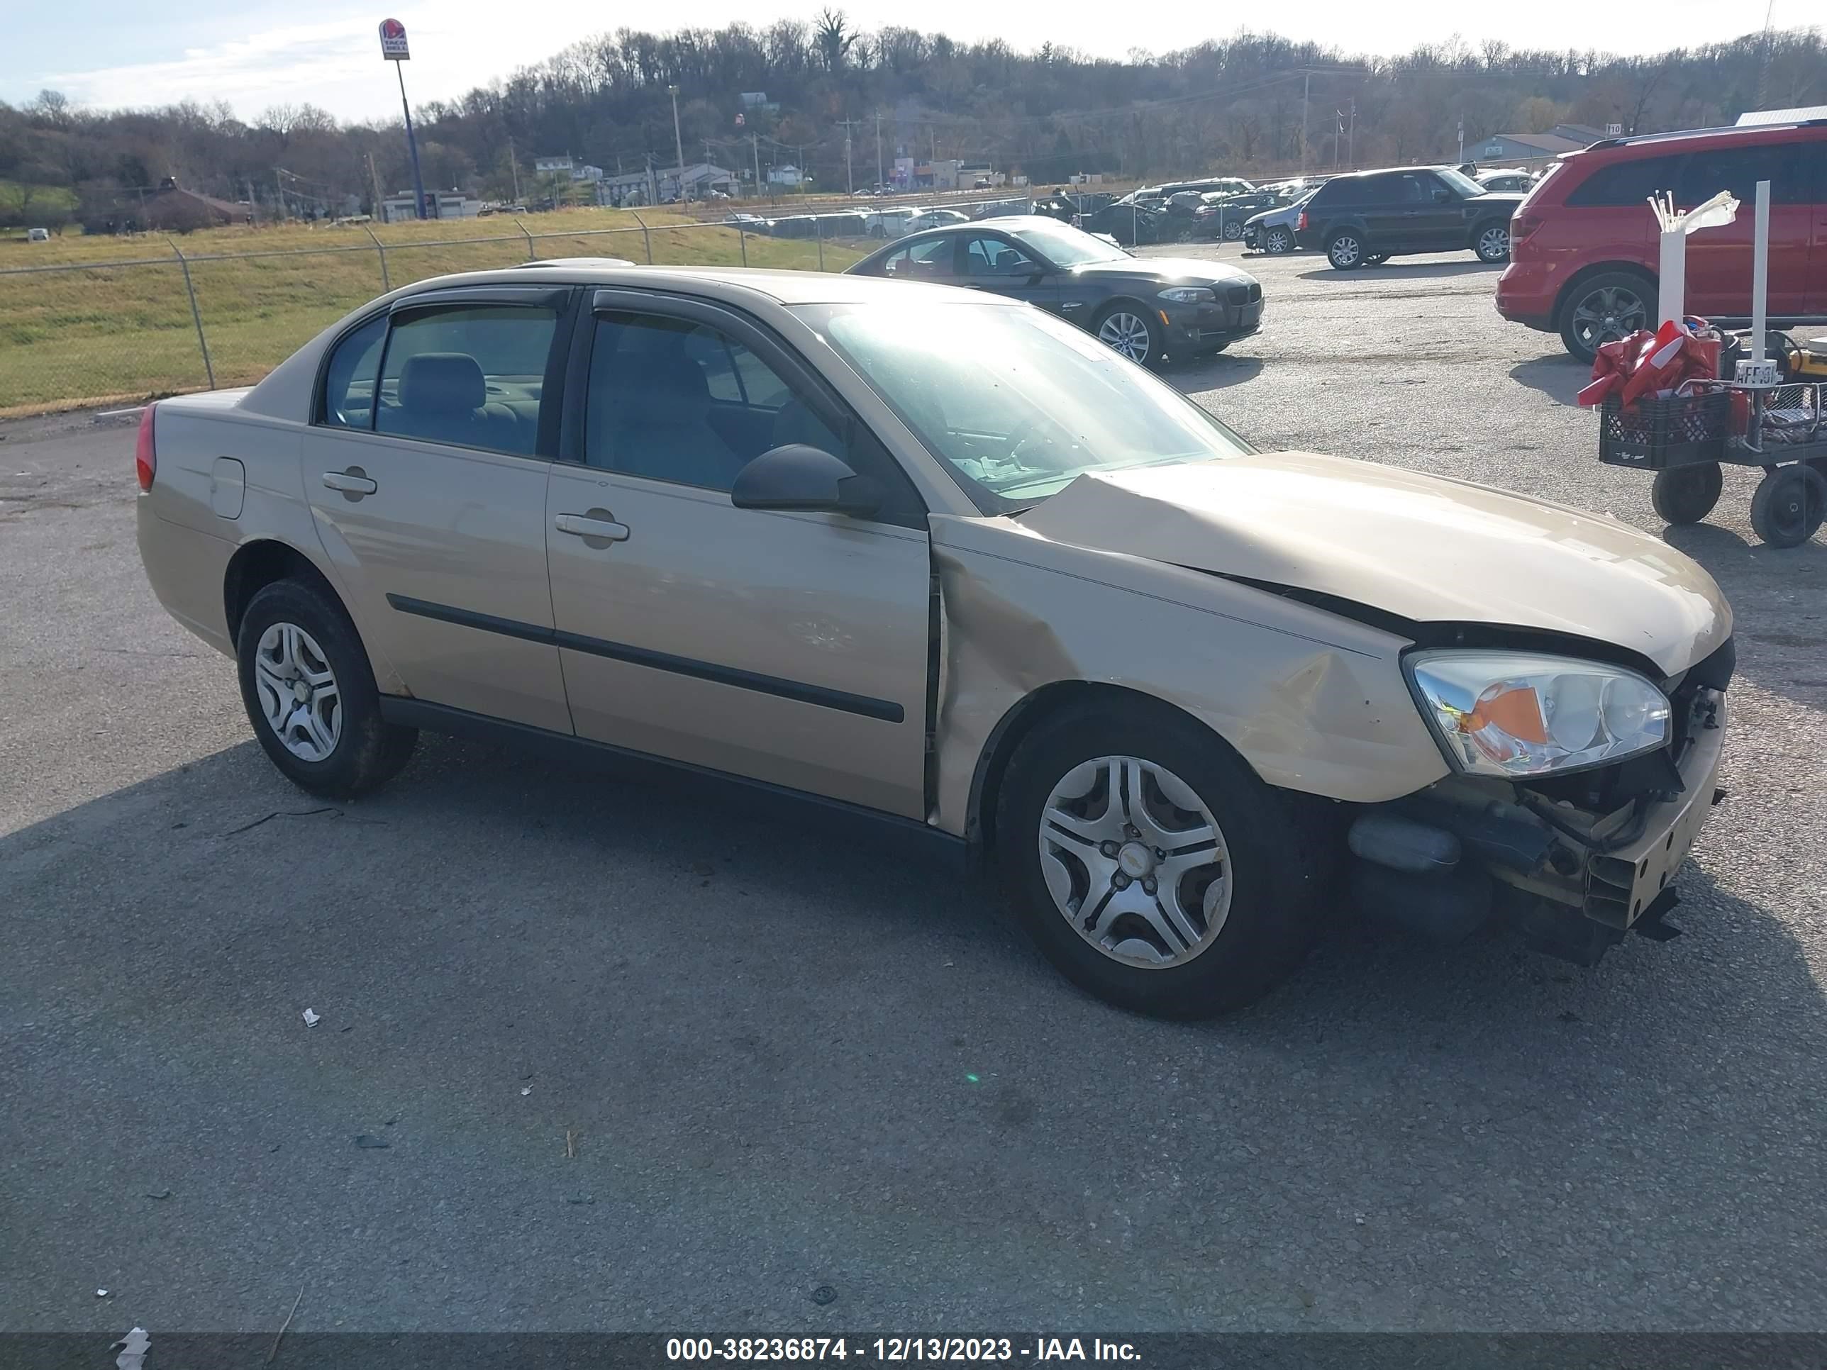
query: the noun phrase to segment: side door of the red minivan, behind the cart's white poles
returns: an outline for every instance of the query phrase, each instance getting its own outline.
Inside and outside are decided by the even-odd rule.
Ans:
[[[1675,188],[1675,206],[1690,210],[1721,190],[1739,199],[1737,221],[1703,228],[1688,239],[1686,311],[1701,316],[1750,314],[1750,259],[1756,234],[1758,181],[1770,183],[1770,314],[1801,314],[1809,296],[1816,245],[1814,186],[1809,148],[1787,141],[1747,142],[1727,135],[1688,153]]]

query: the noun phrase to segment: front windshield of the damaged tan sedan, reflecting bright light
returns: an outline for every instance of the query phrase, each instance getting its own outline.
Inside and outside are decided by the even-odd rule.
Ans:
[[[1173,385],[1038,309],[804,305],[798,312],[985,513],[1019,513],[1087,471],[1251,451]]]

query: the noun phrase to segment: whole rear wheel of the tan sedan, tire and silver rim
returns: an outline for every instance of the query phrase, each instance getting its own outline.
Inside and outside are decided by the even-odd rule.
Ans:
[[[354,625],[300,581],[263,588],[236,636],[241,703],[276,767],[303,791],[353,798],[398,775],[418,731],[380,716],[380,690]]]

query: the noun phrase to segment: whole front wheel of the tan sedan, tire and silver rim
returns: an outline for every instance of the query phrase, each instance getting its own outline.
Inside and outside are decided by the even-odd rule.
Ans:
[[[1047,959],[1160,1017],[1239,1008],[1299,964],[1315,862],[1294,827],[1217,736],[1149,709],[1045,720],[996,807],[1003,886]]]

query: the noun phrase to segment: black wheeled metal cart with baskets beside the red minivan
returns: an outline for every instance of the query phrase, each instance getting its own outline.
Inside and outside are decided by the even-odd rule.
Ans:
[[[1655,471],[1650,502],[1672,524],[1719,502],[1721,462],[1761,466],[1750,526],[1769,546],[1800,546],[1827,513],[1827,382],[1688,382],[1599,415],[1599,460]]]

